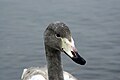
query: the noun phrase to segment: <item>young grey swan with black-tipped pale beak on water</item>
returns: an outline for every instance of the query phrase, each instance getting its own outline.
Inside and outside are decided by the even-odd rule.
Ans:
[[[50,23],[44,32],[47,67],[31,67],[23,70],[22,80],[77,80],[62,70],[61,52],[75,63],[85,65],[86,61],[75,47],[71,32],[63,22]]]

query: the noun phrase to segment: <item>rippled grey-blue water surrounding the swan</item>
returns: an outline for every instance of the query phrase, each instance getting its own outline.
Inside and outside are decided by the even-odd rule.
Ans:
[[[79,80],[120,80],[120,0],[0,0],[0,80],[46,64],[43,32],[56,20],[87,60],[79,66],[63,54],[64,70]]]

